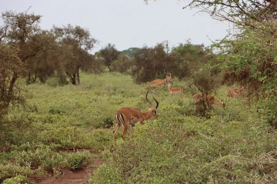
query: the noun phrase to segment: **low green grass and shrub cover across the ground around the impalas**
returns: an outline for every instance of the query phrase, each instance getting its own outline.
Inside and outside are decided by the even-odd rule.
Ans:
[[[166,86],[155,89],[159,120],[137,124],[131,140],[128,131],[122,141],[120,128],[112,142],[116,110],[146,111],[145,94],[150,85],[134,84],[130,76],[116,72],[81,73],[80,77],[79,86],[25,86],[27,106],[36,110],[16,124],[1,125],[0,162],[7,172],[0,171],[0,180],[15,173],[45,175],[47,169],[59,173],[61,168],[93,164],[95,155],[68,156],[55,153],[58,148],[102,153],[106,163],[94,171],[90,183],[273,183],[277,179],[276,132],[260,122],[254,107],[230,99],[225,110],[213,106],[210,119],[193,116],[191,96],[197,89],[173,78],[172,87],[184,88],[184,99],[170,97]],[[54,79],[48,83],[51,81]],[[227,89],[222,86],[212,95],[225,101]],[[149,100],[154,102],[151,95]],[[13,112],[18,116],[24,113]],[[65,157],[70,159],[63,162]]]

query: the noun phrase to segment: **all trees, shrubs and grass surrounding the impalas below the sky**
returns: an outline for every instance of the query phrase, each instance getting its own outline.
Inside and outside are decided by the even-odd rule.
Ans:
[[[275,183],[276,2],[193,0],[187,7],[233,23],[236,32],[208,48],[163,41],[121,52],[109,43],[91,54],[99,41],[87,29],[41,30],[41,15],[3,12],[0,181],[86,169],[89,183]],[[130,140],[120,128],[112,141],[115,112],[147,111],[145,94],[164,71],[173,80],[153,89],[159,119],[137,123]],[[170,95],[174,87],[183,98]],[[226,102],[230,88],[242,87]],[[96,159],[103,163],[92,171]]]

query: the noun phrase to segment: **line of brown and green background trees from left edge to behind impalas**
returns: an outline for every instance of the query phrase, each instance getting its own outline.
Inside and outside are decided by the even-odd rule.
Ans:
[[[121,52],[109,43],[92,55],[99,41],[85,28],[68,24],[41,30],[41,15],[27,12],[6,11],[2,19],[1,44],[18,49],[23,64],[17,77],[26,78],[27,84],[38,80],[45,83],[48,78],[57,77],[61,85],[67,84],[66,78],[78,85],[80,70],[96,74],[105,68],[121,73],[129,70],[138,83],[164,78],[164,69],[182,78],[213,57],[204,45],[189,41],[171,49],[164,41],[154,47],[133,47]]]

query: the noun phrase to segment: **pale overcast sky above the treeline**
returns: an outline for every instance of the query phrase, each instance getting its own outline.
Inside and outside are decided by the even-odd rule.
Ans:
[[[88,28],[100,41],[93,50],[112,43],[118,50],[130,47],[154,46],[164,40],[170,45],[185,43],[211,44],[211,40],[223,38],[228,28],[207,14],[196,14],[196,9],[182,9],[188,4],[181,0],[1,0],[0,11],[26,11],[43,15],[42,29],[68,23]],[[2,21],[0,21],[2,24]],[[209,38],[208,38],[208,37]]]

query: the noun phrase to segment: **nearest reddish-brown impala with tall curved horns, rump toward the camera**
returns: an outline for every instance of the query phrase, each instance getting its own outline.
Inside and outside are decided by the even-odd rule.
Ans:
[[[129,125],[131,125],[131,127],[130,127],[130,139],[131,139],[133,136],[133,127],[135,126],[135,124],[137,122],[140,122],[143,125],[144,120],[148,120],[151,117],[153,117],[154,119],[158,119],[156,110],[159,106],[159,102],[154,97],[154,92],[153,92],[153,98],[154,98],[155,102],[157,103],[157,105],[155,107],[154,104],[151,103],[147,98],[148,92],[149,92],[149,90],[146,93],[146,100],[149,104],[151,104],[151,107],[149,107],[149,109],[146,112],[141,112],[138,109],[133,109],[133,108],[128,108],[128,107],[123,107],[116,111],[113,141],[115,141],[115,135],[120,126],[122,126],[124,128],[122,135],[121,135],[122,139],[124,140],[125,134],[128,130],[128,127],[129,127]]]

